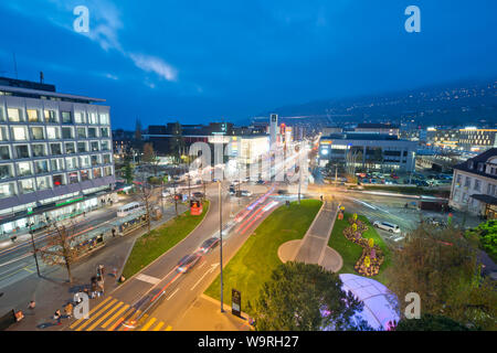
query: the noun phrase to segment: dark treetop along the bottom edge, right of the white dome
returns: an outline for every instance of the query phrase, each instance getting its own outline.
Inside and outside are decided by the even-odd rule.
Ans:
[[[402,319],[395,331],[469,331],[461,322],[443,315],[422,314],[420,319]]]

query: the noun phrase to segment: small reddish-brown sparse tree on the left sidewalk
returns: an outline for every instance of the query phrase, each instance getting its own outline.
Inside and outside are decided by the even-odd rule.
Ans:
[[[49,266],[65,266],[67,269],[68,281],[73,282],[71,265],[77,259],[77,250],[71,245],[71,238],[74,235],[75,224],[70,226],[57,225],[54,223],[52,229],[55,234],[49,238],[45,247],[40,249],[43,263]]]

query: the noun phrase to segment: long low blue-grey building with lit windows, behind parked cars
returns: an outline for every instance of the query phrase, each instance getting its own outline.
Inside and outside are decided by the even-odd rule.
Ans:
[[[319,164],[353,163],[368,170],[411,172],[415,167],[415,141],[381,133],[345,132],[321,137]]]

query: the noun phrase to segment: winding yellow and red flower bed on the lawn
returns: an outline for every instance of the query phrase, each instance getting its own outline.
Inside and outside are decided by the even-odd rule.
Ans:
[[[348,222],[350,226],[343,229],[343,236],[362,247],[362,255],[353,268],[359,275],[366,277],[377,276],[384,260],[383,252],[378,245],[373,244],[372,239],[362,237],[362,234],[368,231],[368,226],[357,220],[357,215],[350,217]]]

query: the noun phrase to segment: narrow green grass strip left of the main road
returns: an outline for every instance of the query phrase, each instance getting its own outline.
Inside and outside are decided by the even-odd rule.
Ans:
[[[192,216],[190,215],[190,212],[187,211],[177,218],[172,218],[160,227],[151,231],[150,234],[139,237],[135,242],[131,254],[126,261],[123,270],[124,277],[131,277],[187,237],[187,235],[202,222],[208,210],[209,201],[204,201],[201,215]]]

